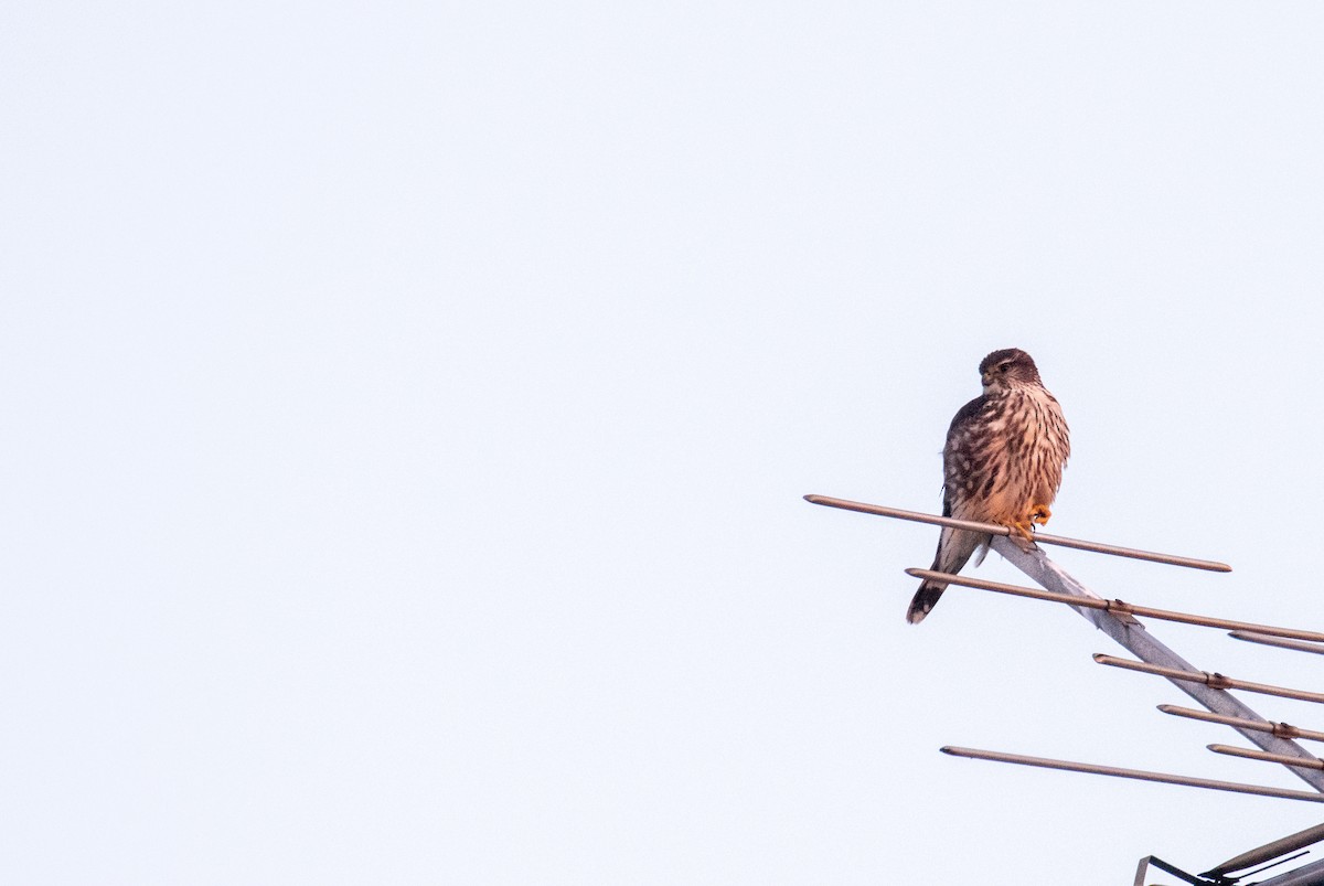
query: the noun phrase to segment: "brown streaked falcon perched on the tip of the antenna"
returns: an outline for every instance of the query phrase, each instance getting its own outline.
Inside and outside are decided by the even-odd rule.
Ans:
[[[993,351],[980,363],[984,393],[952,418],[943,448],[943,517],[1010,527],[1012,540],[1033,547],[1034,524],[1043,526],[1071,454],[1062,407],[1039,380],[1039,369],[1019,348]],[[943,527],[933,571],[960,572],[992,536]],[[906,620],[919,624],[945,584],[924,581]]]

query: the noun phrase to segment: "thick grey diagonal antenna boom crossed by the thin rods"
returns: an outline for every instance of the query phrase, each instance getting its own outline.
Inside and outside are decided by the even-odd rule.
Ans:
[[[1001,554],[1006,560],[1025,572],[1030,579],[1037,581],[1039,585],[1049,591],[1055,591],[1058,593],[1070,593],[1078,597],[1099,600],[1099,595],[1090,591],[1087,587],[1071,577],[1062,567],[1045,556],[1043,551],[1022,551],[1019,547],[1013,544],[1010,539],[994,536],[993,550]],[[1152,665],[1160,665],[1162,667],[1173,667],[1184,671],[1198,671],[1200,669],[1188,662],[1185,658],[1174,653],[1172,649],[1158,642],[1145,626],[1133,618],[1124,621],[1111,612],[1103,609],[1076,609],[1082,616],[1091,621],[1099,630],[1104,632],[1112,637],[1123,648],[1131,650],[1136,658],[1149,662]],[[1213,686],[1206,686],[1204,683],[1193,683],[1182,679],[1173,679],[1172,685],[1180,689],[1182,693],[1190,698],[1200,702],[1205,709],[1213,711],[1214,714],[1225,714],[1227,716],[1239,716],[1245,719],[1268,722],[1247,705],[1245,705],[1239,698],[1227,693],[1222,689],[1215,689]],[[1237,727],[1233,727],[1237,728]],[[1237,728],[1243,736],[1246,736],[1251,743],[1258,746],[1260,750],[1270,754],[1282,754],[1284,756],[1294,756],[1313,760],[1315,756],[1303,748],[1296,742],[1291,739],[1284,739],[1274,735],[1272,732],[1260,732],[1256,730],[1243,730]],[[1316,791],[1324,793],[1324,772],[1317,769],[1301,769],[1296,767],[1287,767],[1287,771],[1298,776],[1307,784],[1309,784]]]

